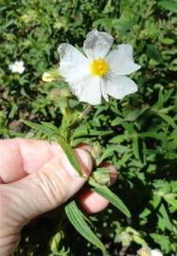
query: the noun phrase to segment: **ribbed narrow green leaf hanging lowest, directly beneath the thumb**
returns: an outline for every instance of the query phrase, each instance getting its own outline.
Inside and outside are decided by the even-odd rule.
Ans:
[[[78,208],[75,201],[72,201],[65,207],[65,213],[74,226],[75,229],[82,235],[87,241],[89,241],[94,246],[101,250],[105,250],[105,247],[101,241],[97,238],[95,233],[90,229],[87,222],[85,221],[85,216]]]

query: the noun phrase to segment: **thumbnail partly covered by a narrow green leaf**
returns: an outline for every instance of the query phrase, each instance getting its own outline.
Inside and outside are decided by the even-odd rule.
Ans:
[[[86,151],[81,149],[76,149],[75,152],[79,160],[80,168],[83,172],[83,176],[87,177],[92,170],[91,156]],[[62,166],[65,169],[65,171],[68,174],[70,174],[72,177],[77,178],[80,176],[79,172],[77,172],[77,170],[71,165],[66,155],[63,155],[62,157]]]

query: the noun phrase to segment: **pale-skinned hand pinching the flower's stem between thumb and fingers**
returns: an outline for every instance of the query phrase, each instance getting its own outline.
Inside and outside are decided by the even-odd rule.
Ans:
[[[84,178],[70,165],[56,143],[33,139],[0,140],[0,256],[9,256],[18,243],[23,227],[42,213],[60,207],[80,191],[91,174],[89,147],[75,149]],[[107,164],[112,182],[116,170]],[[80,206],[98,212],[108,201],[96,192],[80,192]]]

